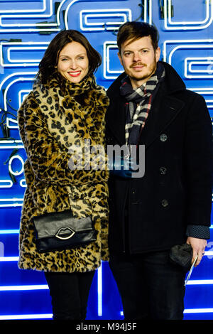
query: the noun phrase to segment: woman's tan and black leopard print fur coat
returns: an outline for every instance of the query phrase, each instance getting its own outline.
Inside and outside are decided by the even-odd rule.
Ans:
[[[108,261],[109,171],[69,167],[69,149],[73,145],[84,150],[87,139],[92,146],[104,146],[108,104],[106,92],[96,84],[93,75],[79,84],[64,80],[63,85],[59,85],[55,75],[47,85],[35,84],[18,110],[19,132],[27,153],[27,187],[19,234],[20,269],[84,272],[97,269],[101,260]],[[104,161],[103,153],[100,156],[99,161]],[[97,162],[94,154],[93,158],[93,163]],[[77,160],[76,155],[73,159]],[[92,215],[97,240],[75,249],[38,252],[33,217],[67,209],[75,217]]]

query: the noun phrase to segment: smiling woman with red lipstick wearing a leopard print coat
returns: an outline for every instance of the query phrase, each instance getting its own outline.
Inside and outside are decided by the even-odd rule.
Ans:
[[[84,152],[86,140],[91,146],[104,146],[108,97],[93,74],[100,64],[99,53],[82,33],[61,31],[50,42],[33,90],[18,110],[27,153],[18,266],[45,272],[54,319],[86,318],[94,271],[101,260],[108,260],[107,168],[95,168],[94,153],[90,169],[69,164],[70,147]],[[39,252],[33,218],[69,209],[76,218],[92,217],[96,240]]]

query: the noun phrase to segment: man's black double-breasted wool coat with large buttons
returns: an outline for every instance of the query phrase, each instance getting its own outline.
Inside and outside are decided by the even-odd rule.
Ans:
[[[111,252],[170,249],[186,241],[187,225],[210,225],[212,122],[204,98],[186,90],[178,73],[167,63],[163,65],[165,80],[140,138],[146,148],[145,175],[109,179]],[[126,100],[119,93],[124,75],[107,91],[110,145],[125,144]]]

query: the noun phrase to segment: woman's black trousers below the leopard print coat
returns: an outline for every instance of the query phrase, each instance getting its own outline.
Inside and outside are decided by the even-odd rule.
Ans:
[[[85,273],[45,272],[52,297],[54,320],[84,320],[94,271]]]

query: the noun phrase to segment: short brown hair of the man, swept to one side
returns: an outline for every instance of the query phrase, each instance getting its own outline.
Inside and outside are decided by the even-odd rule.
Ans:
[[[117,45],[121,53],[121,45],[129,40],[129,43],[145,36],[151,36],[154,50],[158,48],[159,33],[158,29],[146,22],[131,21],[120,26],[117,34]]]

